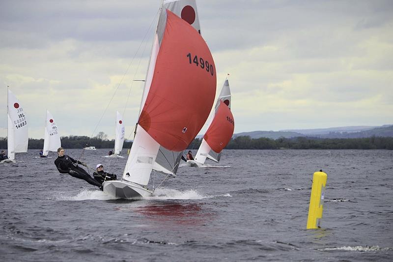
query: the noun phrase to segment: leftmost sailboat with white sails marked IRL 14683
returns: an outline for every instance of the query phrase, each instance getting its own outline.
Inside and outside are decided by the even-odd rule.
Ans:
[[[28,121],[19,100],[8,89],[7,147],[8,159],[1,163],[15,163],[15,153],[28,152]]]

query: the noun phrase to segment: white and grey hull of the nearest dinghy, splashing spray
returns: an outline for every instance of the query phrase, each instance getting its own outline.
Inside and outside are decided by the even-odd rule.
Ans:
[[[116,198],[139,199],[153,195],[150,190],[125,180],[105,181],[102,185],[105,193]]]

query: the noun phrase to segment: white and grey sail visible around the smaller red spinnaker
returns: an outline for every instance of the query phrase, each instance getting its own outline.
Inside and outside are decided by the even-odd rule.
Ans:
[[[229,82],[228,79],[225,79],[223,88],[221,89],[221,93],[220,96],[217,99],[216,102],[216,106],[215,106],[215,110],[214,110],[214,114],[212,115],[212,117],[210,118],[209,121],[209,126],[211,125],[215,113],[217,112],[219,106],[220,106],[220,101],[223,101],[230,109],[230,105],[231,105],[231,94],[230,94],[230,89],[229,89]],[[220,153],[216,153],[214,152],[210,146],[207,144],[206,140],[203,138],[202,142],[199,146],[197,155],[195,155],[195,159],[194,161],[200,163],[200,164],[204,164],[206,161],[206,158],[213,160],[214,162],[219,162],[221,159],[221,152]]]

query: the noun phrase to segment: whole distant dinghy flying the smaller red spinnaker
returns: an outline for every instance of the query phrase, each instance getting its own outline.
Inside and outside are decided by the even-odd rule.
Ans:
[[[206,158],[217,163],[220,161],[221,151],[230,141],[235,127],[230,106],[231,94],[229,82],[226,79],[220,96],[217,99],[214,115],[209,128],[203,136],[195,159],[187,161],[188,165],[200,166],[205,163]]]

